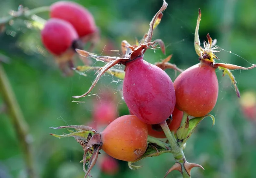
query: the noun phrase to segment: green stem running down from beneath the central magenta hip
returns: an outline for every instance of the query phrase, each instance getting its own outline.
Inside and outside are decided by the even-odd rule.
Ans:
[[[183,178],[191,178],[191,176],[189,175],[189,173],[186,171],[186,169],[184,167],[184,163],[186,162],[186,158],[185,158],[185,155],[183,153],[182,147],[180,147],[177,144],[176,138],[172,134],[172,132],[170,131],[166,121],[161,122],[160,126],[162,127],[163,132],[165,133],[166,138],[169,141],[169,144],[170,144],[171,149],[172,149],[172,154],[175,158],[175,162],[180,164],[181,169],[179,171],[182,174],[182,177]]]

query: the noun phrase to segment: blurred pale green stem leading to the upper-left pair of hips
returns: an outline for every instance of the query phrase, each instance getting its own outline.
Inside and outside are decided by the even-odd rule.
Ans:
[[[45,12],[45,11],[49,11],[50,8],[49,6],[42,6],[42,7],[38,7],[38,8],[33,8],[31,10],[21,10],[21,11],[17,11],[15,13],[15,15],[9,15],[7,17],[2,17],[0,19],[0,25],[2,24],[5,24],[5,23],[8,23],[10,20],[14,20],[18,17],[30,17],[32,16],[33,14],[38,14],[38,13],[41,13],[41,12]]]

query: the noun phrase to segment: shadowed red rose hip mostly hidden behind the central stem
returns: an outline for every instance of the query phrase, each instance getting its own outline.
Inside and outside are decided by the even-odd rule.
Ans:
[[[177,129],[180,127],[180,122],[182,120],[182,116],[183,116],[183,112],[178,110],[176,107],[172,113],[172,121],[169,124],[169,129],[172,132],[177,132]],[[151,124],[147,124],[148,125],[148,135],[155,137],[155,138],[166,138],[166,135],[164,134],[163,131],[156,131],[153,130],[151,127]]]

